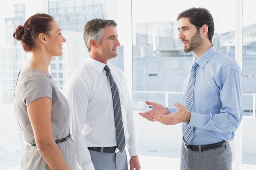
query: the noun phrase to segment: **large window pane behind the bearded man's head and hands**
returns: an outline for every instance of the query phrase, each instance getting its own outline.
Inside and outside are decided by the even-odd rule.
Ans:
[[[147,8],[140,15],[145,3]],[[219,3],[227,4],[229,12],[225,5],[217,5]],[[204,0],[163,4],[166,4],[165,0],[132,1],[133,103],[138,111],[148,110],[146,100],[166,106],[173,106],[174,102],[183,103],[183,79],[192,64],[193,53],[184,53],[183,44],[178,39],[176,18],[182,11],[191,7],[209,9],[215,22],[213,45],[235,59],[235,3],[232,0],[217,0],[214,2],[216,5]]]

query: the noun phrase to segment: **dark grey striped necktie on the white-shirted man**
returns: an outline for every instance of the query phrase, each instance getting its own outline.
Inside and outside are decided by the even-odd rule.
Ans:
[[[104,67],[106,71],[107,77],[110,82],[111,92],[112,92],[112,99],[113,99],[113,107],[114,107],[114,116],[115,116],[115,125],[116,125],[116,132],[117,132],[117,148],[123,152],[125,147],[125,137],[124,137],[124,128],[123,128],[123,121],[122,121],[122,112],[121,112],[121,104],[119,99],[119,93],[117,89],[117,84],[110,73],[110,69],[108,66]]]

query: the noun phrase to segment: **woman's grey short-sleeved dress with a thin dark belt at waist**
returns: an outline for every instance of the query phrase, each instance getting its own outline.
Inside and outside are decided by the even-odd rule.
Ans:
[[[49,97],[52,100],[52,134],[54,140],[70,134],[69,104],[59,91],[50,74],[35,69],[21,70],[14,96],[14,108],[22,135],[28,143],[35,144],[34,133],[27,114],[27,106],[35,99]],[[76,170],[76,153],[72,139],[57,144],[70,170]],[[50,170],[36,146],[27,144],[22,154],[21,170]]]

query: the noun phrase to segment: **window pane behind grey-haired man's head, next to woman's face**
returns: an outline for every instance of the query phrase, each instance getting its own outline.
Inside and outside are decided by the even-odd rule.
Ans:
[[[117,20],[116,15],[108,18],[110,8],[104,6],[101,0],[49,0],[49,14],[56,19],[62,29],[62,35],[67,39],[63,43],[63,56],[57,57],[59,59],[51,63],[52,74],[63,73],[63,76],[55,78],[59,88],[63,88],[67,78],[88,57],[83,41],[85,23],[93,18]],[[123,70],[123,58],[124,52],[121,44],[118,48],[118,57],[111,59],[110,62]]]

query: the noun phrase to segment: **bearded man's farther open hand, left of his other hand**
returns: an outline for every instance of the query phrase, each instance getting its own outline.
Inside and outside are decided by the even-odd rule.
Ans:
[[[139,115],[141,115],[141,117],[144,117],[150,121],[155,121],[153,119],[155,117],[157,117],[158,115],[168,115],[168,113],[169,113],[168,109],[166,107],[164,107],[162,104],[155,103],[155,102],[149,102],[149,101],[146,101],[146,104],[153,106],[153,108],[144,113],[139,113]]]

